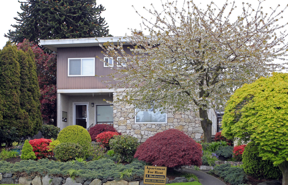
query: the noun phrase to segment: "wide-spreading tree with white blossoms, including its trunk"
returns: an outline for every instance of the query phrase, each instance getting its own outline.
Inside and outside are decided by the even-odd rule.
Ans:
[[[212,2],[203,10],[188,1],[179,10],[173,2],[165,3],[161,11],[147,10],[156,22],[143,18],[150,35],[135,32],[126,37],[133,55],[121,43],[102,46],[107,57],[126,63],[112,74],[115,82],[110,88],[127,87],[114,101],[162,112],[192,106],[200,117],[204,141],[211,142],[207,110],[223,105],[244,83],[283,68],[271,63],[287,56],[287,34],[279,31],[285,25],[278,25],[283,11],[276,8],[264,14],[261,3],[255,9],[243,3],[242,14],[233,21],[230,15],[236,6],[228,3],[218,8]]]

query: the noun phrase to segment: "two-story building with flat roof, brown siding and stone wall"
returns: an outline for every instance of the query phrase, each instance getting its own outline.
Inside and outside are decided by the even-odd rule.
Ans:
[[[203,130],[193,111],[161,114],[148,110],[135,115],[137,107],[133,105],[107,103],[121,96],[124,89],[108,89],[102,81],[109,77],[99,76],[109,75],[111,67],[121,66],[105,57],[99,44],[117,43],[119,38],[122,37],[40,40],[42,46],[57,53],[57,126],[63,129],[69,125],[89,128],[95,124],[113,124],[118,132],[141,141],[157,132],[175,128],[200,140]],[[124,45],[128,47],[129,43]],[[128,48],[126,52],[131,54]],[[210,110],[209,116],[213,120],[212,134],[215,134],[216,112]]]

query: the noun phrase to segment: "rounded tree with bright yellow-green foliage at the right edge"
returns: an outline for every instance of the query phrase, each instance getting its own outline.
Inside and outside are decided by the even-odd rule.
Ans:
[[[227,102],[222,134],[252,140],[259,157],[278,165],[288,184],[288,74],[273,73],[237,89]]]

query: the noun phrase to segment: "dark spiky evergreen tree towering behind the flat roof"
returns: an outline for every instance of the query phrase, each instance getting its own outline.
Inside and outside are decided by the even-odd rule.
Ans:
[[[19,24],[6,37],[15,43],[24,38],[35,44],[39,39],[85,38],[109,36],[108,26],[100,16],[105,11],[95,0],[26,0],[21,2]]]

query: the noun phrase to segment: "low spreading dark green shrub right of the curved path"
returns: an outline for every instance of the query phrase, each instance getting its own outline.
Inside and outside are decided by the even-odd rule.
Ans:
[[[214,169],[209,171],[209,174],[224,178],[224,182],[231,185],[241,184],[247,180],[247,175],[242,167],[232,167],[229,163],[215,166]]]

